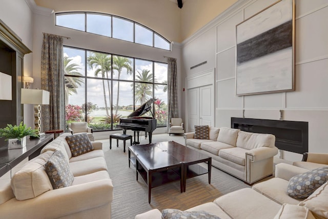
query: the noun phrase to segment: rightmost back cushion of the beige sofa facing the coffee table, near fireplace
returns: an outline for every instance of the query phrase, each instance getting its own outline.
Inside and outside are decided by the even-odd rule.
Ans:
[[[236,146],[247,150],[260,147],[274,147],[276,137],[272,134],[260,134],[240,131],[238,132]]]

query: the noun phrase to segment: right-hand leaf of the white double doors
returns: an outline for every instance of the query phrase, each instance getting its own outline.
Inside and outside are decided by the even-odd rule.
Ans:
[[[214,96],[212,85],[199,88],[199,124],[214,126]]]

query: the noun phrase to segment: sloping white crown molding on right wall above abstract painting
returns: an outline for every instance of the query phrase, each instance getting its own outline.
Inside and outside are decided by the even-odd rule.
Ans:
[[[220,23],[222,23],[224,20],[228,19],[229,17],[233,16],[235,13],[242,10],[246,5],[251,4],[254,2],[254,0],[239,0],[232,6],[230,6],[228,9],[217,15],[212,21],[210,21],[208,24],[201,27],[199,30],[197,30],[194,34],[186,38],[184,41],[182,41],[181,45],[185,46],[200,35],[202,35],[204,32],[209,31],[211,28],[218,26]]]

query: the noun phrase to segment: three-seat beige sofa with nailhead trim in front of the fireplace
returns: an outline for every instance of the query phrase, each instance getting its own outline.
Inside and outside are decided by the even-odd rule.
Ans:
[[[248,184],[273,173],[273,156],[278,153],[275,136],[209,127],[209,139],[184,134],[186,147],[212,157],[212,166],[226,171]]]

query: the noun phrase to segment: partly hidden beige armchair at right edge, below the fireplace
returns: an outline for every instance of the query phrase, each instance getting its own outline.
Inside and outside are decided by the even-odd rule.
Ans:
[[[310,153],[303,154],[302,161],[293,162],[294,166],[304,169],[316,169],[328,165],[328,153]]]

